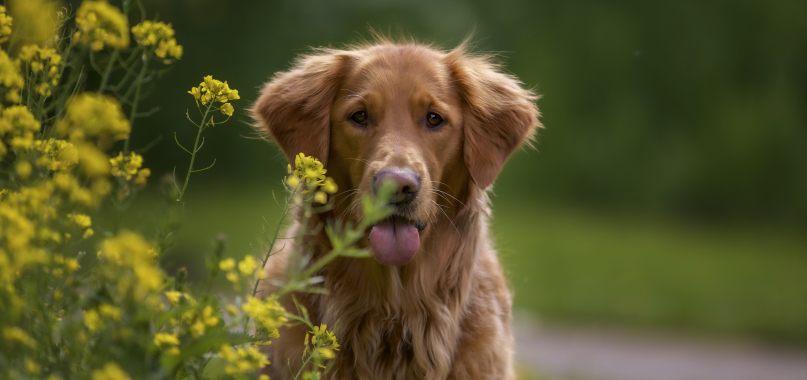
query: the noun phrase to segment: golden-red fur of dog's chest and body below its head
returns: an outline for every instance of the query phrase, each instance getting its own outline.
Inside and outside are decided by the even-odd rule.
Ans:
[[[425,247],[434,254],[422,259],[430,262],[417,271],[339,259],[322,273],[328,295],[298,295],[312,322],[336,329],[341,348],[325,378],[512,378],[510,292],[485,218],[469,213],[459,231],[439,231]],[[270,367],[273,379],[290,378],[285,364],[299,368],[304,334],[280,331],[270,346],[272,362],[281,364]]]

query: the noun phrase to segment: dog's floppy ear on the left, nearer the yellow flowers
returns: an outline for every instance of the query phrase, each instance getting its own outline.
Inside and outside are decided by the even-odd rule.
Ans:
[[[252,106],[256,129],[274,139],[290,164],[304,153],[327,165],[331,104],[348,58],[330,49],[302,56],[291,70],[276,73]]]

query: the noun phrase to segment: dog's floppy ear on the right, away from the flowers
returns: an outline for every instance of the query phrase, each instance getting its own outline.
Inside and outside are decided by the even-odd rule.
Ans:
[[[510,155],[525,142],[531,144],[536,128],[543,128],[538,96],[501,73],[489,56],[469,55],[460,46],[446,59],[465,103],[465,165],[476,185],[486,189]]]

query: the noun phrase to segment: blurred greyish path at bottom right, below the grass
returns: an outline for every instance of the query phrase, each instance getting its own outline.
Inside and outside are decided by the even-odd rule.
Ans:
[[[516,358],[549,378],[807,380],[807,351],[536,326],[516,319]]]

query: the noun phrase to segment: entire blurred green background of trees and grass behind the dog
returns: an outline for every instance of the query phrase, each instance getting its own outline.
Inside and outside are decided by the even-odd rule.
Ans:
[[[218,233],[243,256],[276,218],[286,163],[245,112],[274,72],[368,27],[445,48],[473,30],[477,50],[543,95],[537,150],[511,159],[493,197],[516,308],[807,345],[806,2],[145,3],[185,47],[132,135],[134,147],[162,136],[145,154],[155,177],[187,165],[171,140],[195,134],[192,86],[213,75],[242,96],[206,132],[197,162],[216,166],[192,178],[169,268],[201,272]],[[158,212],[152,198],[130,227]]]

